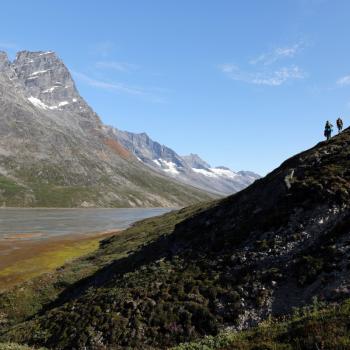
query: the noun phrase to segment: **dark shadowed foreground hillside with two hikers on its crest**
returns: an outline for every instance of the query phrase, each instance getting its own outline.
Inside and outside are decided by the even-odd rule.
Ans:
[[[207,342],[348,349],[349,169],[346,129],[235,195],[139,222],[96,253],[2,294],[0,340],[166,349],[248,329],[232,335],[235,347],[220,336]],[[264,320],[270,328],[252,328]]]

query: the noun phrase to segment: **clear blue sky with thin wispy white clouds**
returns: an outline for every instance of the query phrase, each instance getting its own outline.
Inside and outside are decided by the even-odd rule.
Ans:
[[[0,49],[54,50],[110,125],[265,174],[350,123],[350,1],[3,2]]]

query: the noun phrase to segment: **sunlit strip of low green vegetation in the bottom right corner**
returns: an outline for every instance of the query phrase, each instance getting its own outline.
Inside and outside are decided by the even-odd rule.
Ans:
[[[346,350],[350,349],[350,299],[341,305],[312,305],[287,320],[270,319],[243,332],[221,333],[172,350]]]

